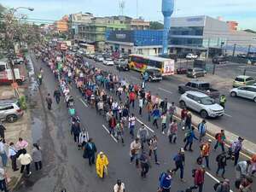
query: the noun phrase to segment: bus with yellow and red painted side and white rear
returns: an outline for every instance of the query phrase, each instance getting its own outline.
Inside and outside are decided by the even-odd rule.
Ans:
[[[158,68],[162,76],[174,74],[174,60],[157,56],[129,55],[129,68],[138,72],[145,72],[148,68]]]

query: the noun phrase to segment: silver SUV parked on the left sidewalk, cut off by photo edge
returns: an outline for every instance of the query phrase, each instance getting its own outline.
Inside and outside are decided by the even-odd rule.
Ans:
[[[23,115],[20,108],[20,102],[15,100],[0,101],[0,120],[6,120],[9,123],[15,122]]]

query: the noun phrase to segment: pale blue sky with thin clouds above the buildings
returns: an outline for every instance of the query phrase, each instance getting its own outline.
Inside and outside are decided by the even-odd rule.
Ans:
[[[32,7],[34,11],[19,10],[29,19],[48,23],[61,16],[78,12],[90,12],[95,16],[120,15],[121,0],[0,0],[9,8]],[[124,0],[124,15],[142,16],[145,20],[162,21],[161,0]],[[138,6],[137,6],[138,4]],[[173,17],[208,15],[221,16],[224,20],[236,20],[240,29],[256,30],[256,0],[175,0]]]

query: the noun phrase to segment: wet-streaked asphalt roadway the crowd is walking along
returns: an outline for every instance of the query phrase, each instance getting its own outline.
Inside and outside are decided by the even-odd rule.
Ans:
[[[53,93],[55,90],[55,79],[48,67],[45,67],[40,61],[34,61],[36,69],[39,67],[44,68],[44,83],[40,88],[40,93],[44,97],[47,93]],[[127,76],[130,73],[124,74]],[[135,74],[135,73],[131,73]],[[163,81],[160,84],[168,84]],[[160,86],[158,84],[150,84],[154,87],[155,92],[160,92]],[[160,160],[160,166],[152,163],[152,168],[148,172],[148,177],[142,179],[140,172],[135,165],[130,164],[129,146],[131,143],[131,137],[128,131],[125,131],[125,146],[121,143],[116,143],[113,137],[110,137],[108,132],[103,128],[103,125],[107,126],[106,120],[96,114],[95,109],[90,108],[82,100],[78,90],[72,88],[72,94],[75,98],[75,107],[81,119],[82,126],[89,131],[90,137],[94,138],[96,147],[99,151],[103,151],[108,155],[109,160],[109,175],[105,179],[96,177],[95,167],[88,166],[87,160],[82,158],[82,151],[79,151],[73,143],[73,138],[70,135],[70,125],[68,122],[67,108],[65,103],[61,101],[61,104],[53,104],[53,110],[49,112],[44,107],[45,112],[45,127],[43,130],[43,137],[40,140],[40,144],[43,148],[44,154],[44,169],[42,172],[33,172],[32,177],[25,179],[24,183],[20,186],[19,192],[58,192],[61,188],[67,188],[68,192],[111,192],[113,191],[113,184],[117,178],[121,178],[125,183],[128,192],[154,192],[158,186],[158,177],[160,172],[166,171],[167,168],[174,167],[172,157],[177,153],[178,148],[183,147],[183,131],[178,132],[177,144],[169,144],[167,137],[162,135],[159,130],[156,130],[152,123],[148,123],[146,115],[142,117],[138,115],[138,108],[133,112],[137,118],[140,119],[145,125],[152,131],[149,131],[152,136],[155,134],[159,138],[158,155]],[[165,96],[169,96],[166,93]],[[63,99],[63,98],[62,98]],[[44,112],[42,115],[44,116]],[[144,112],[145,113],[145,112]],[[137,128],[141,123],[137,122]],[[213,145],[213,143],[212,143]],[[178,189],[185,189],[193,185],[193,178],[191,170],[196,167],[195,160],[199,155],[199,143],[195,142],[193,145],[195,151],[193,153],[186,152],[186,166],[184,172],[184,178],[186,183],[179,181],[179,172],[172,182],[172,191],[176,192]],[[212,151],[210,156],[211,171],[207,170],[205,178],[204,191],[213,191],[213,184],[218,181],[219,178],[215,177],[216,171],[216,155],[220,153],[220,148],[217,152]],[[241,157],[242,159],[242,157]],[[152,161],[153,162],[153,161]],[[231,189],[234,190],[235,181],[235,167],[231,162],[228,162],[226,177],[230,178]],[[256,189],[256,186],[253,186]]]

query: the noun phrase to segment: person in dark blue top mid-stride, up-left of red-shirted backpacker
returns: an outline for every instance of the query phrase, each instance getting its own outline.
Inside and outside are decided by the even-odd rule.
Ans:
[[[175,161],[175,169],[172,169],[172,172],[177,172],[177,170],[180,170],[180,180],[184,182],[183,180],[183,172],[184,172],[184,165],[185,165],[185,154],[184,149],[180,148],[180,150],[177,152],[177,154],[174,156],[173,160]]]

